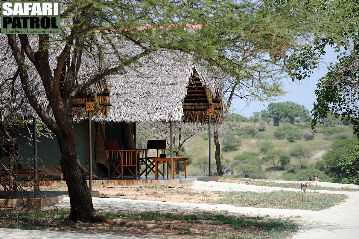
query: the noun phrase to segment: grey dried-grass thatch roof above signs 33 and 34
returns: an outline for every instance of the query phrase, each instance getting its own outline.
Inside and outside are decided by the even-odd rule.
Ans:
[[[0,36],[2,49],[6,46],[6,36]],[[100,44],[101,45],[101,44]],[[4,48],[5,47],[5,48]],[[141,52],[141,48],[131,42],[121,43],[121,53],[134,56]],[[108,68],[115,65],[116,57],[111,48],[108,49],[106,61],[101,67]],[[102,52],[104,52],[102,49]],[[79,72],[79,83],[91,78],[97,71],[97,49],[86,52],[83,65]],[[112,55],[112,56],[111,56]],[[55,56],[55,54],[54,54]],[[13,77],[16,66],[11,57],[11,50],[1,56],[1,81]],[[55,62],[55,61],[54,61]],[[38,99],[48,109],[45,92],[43,92],[39,77],[35,70],[30,70],[30,81]],[[64,71],[65,73],[65,71]],[[1,89],[1,102],[8,102],[11,81],[5,83]],[[223,80],[215,70],[206,68],[205,64],[197,61],[190,54],[179,51],[160,50],[153,52],[131,64],[124,71],[106,78],[104,81],[90,87],[77,97],[73,105],[83,109],[87,97],[92,95],[99,111],[93,113],[93,120],[105,121],[185,121],[191,123],[207,123],[206,109],[213,101],[215,114],[212,123],[222,122],[224,105],[222,101]],[[12,117],[36,117],[30,104],[25,99],[20,80],[15,82],[15,102],[11,105]],[[109,94],[109,97],[108,97]],[[1,117],[4,117],[4,107],[1,104]],[[109,106],[111,105],[111,106]],[[74,108],[74,109],[76,109]],[[51,110],[48,110],[51,112]],[[77,111],[78,112],[78,111]],[[76,114],[75,119],[80,119]]]

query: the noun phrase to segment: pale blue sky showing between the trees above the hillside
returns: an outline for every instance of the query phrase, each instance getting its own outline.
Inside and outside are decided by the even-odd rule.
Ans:
[[[330,62],[335,62],[337,60],[337,53],[335,53],[331,48],[326,48],[326,52],[327,53],[323,58],[324,62],[321,63],[316,70],[314,70],[314,74],[312,74],[308,80],[304,82],[292,82],[290,78],[284,80],[287,85],[286,91],[288,91],[285,96],[275,101],[266,101],[263,103],[250,102],[248,105],[244,100],[237,98],[236,100],[233,100],[232,103],[233,107],[236,107],[235,113],[250,117],[253,115],[253,112],[266,109],[266,106],[268,106],[270,102],[283,101],[293,101],[300,105],[304,105],[310,112],[313,109],[313,103],[316,101],[314,90],[317,87],[316,85],[318,83],[318,79],[326,74],[327,66],[330,64]]]

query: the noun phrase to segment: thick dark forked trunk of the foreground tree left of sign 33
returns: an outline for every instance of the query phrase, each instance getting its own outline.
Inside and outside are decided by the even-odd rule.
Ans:
[[[19,35],[22,43],[22,51],[36,67],[41,77],[43,87],[46,91],[48,102],[51,106],[53,118],[46,109],[38,102],[29,82],[27,67],[24,65],[24,58],[20,52],[15,35],[8,35],[9,44],[13,51],[13,56],[18,64],[19,76],[23,90],[31,106],[38,116],[56,135],[61,151],[61,169],[64,173],[65,181],[69,190],[71,212],[70,219],[73,221],[102,221],[103,216],[99,215],[93,208],[92,199],[86,182],[86,173],[80,165],[76,150],[76,133],[71,119],[69,109],[72,109],[72,98],[67,97],[68,101],[62,99],[59,90],[59,78],[61,74],[62,64],[59,64],[52,75],[52,70],[48,63],[48,49],[43,48],[48,41],[47,35],[41,35],[39,42],[39,52],[33,53],[28,46],[26,35]],[[66,52],[66,51],[64,51]],[[64,53],[59,62],[64,62]],[[65,89],[66,91],[66,89]],[[64,93],[65,94],[65,93]]]

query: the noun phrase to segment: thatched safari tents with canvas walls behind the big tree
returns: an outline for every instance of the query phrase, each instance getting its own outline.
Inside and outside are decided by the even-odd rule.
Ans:
[[[11,49],[4,40],[6,35],[0,36],[0,45],[6,49],[0,61],[1,124],[9,115],[10,119],[28,121],[23,128],[13,132],[19,144],[19,155],[23,158],[33,157],[31,140],[32,119],[41,121],[24,95],[19,76],[16,73],[16,64],[11,57]],[[121,50],[126,54],[135,55],[141,51],[140,47],[131,42],[121,43]],[[93,52],[86,52],[79,71],[79,82],[84,82],[93,76],[98,68],[97,59]],[[107,56],[107,64],[113,57]],[[103,66],[108,67],[108,66]],[[37,72],[31,68],[29,76],[38,100],[45,105],[51,115],[51,108],[47,103],[45,92]],[[66,77],[66,66],[63,69]],[[8,80],[17,77],[14,85]],[[61,84],[61,83],[60,83]],[[73,101],[74,125],[77,136],[78,156],[80,163],[88,172],[88,120],[84,117],[85,104],[88,101],[95,103],[95,111],[91,115],[92,132],[92,175],[93,178],[106,177],[106,155],[103,140],[120,142],[123,149],[136,148],[132,137],[134,130],[132,123],[143,121],[184,121],[195,124],[208,124],[206,109],[214,108],[211,124],[221,123],[224,119],[224,104],[222,89],[224,83],[215,68],[206,65],[190,54],[180,51],[159,50],[142,57],[138,62],[126,67],[116,75],[106,77],[86,92],[81,92]],[[13,90],[12,90],[13,89]],[[7,111],[9,97],[12,101]],[[3,129],[1,129],[3,134]],[[3,143],[3,142],[1,142]],[[56,137],[48,138],[39,135],[37,142],[37,156],[39,165],[43,165],[42,178],[60,179],[60,150]],[[2,155],[1,162],[5,163],[6,155]]]

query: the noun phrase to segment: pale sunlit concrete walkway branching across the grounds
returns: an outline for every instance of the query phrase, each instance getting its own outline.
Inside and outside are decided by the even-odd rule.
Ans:
[[[318,183],[319,185],[320,183]],[[300,184],[299,184],[300,185]],[[346,185],[342,184],[330,184],[325,186],[342,187]],[[358,188],[356,185],[349,185],[350,187]],[[276,188],[276,187],[264,187],[244,185],[238,183],[224,183],[224,182],[202,182],[195,181],[190,188],[196,190],[207,191],[256,191],[256,192],[270,192],[270,191],[300,191],[295,188]],[[186,204],[186,203],[173,203],[173,202],[158,202],[158,201],[143,201],[143,200],[126,200],[126,199],[111,199],[111,198],[93,198],[93,205],[95,209],[101,209],[103,211],[125,211],[125,212],[138,212],[138,211],[163,211],[163,212],[177,212],[177,213],[202,213],[202,212],[216,212],[226,215],[260,215],[271,217],[295,217],[299,218],[302,222],[298,232],[292,237],[292,239],[356,239],[359,238],[359,192],[343,192],[343,191],[323,191],[323,190],[311,190],[321,193],[335,193],[346,194],[348,199],[335,205],[331,208],[322,211],[309,211],[309,210],[290,210],[290,209],[271,209],[271,208],[256,208],[256,207],[237,207],[230,205],[210,205],[210,204]],[[70,199],[66,197],[63,201],[56,205],[57,207],[70,207]],[[6,238],[36,238],[47,239],[58,237],[57,235],[51,236],[51,233],[58,232],[42,232],[35,231],[36,237],[28,237],[32,234],[30,231],[26,232],[26,237],[11,237],[9,230],[13,229],[1,229],[1,239]],[[10,234],[9,234],[10,233]],[[39,234],[43,233],[42,236]],[[48,233],[48,234],[47,234]],[[19,232],[19,234],[21,234]],[[79,235],[79,234],[76,234]],[[98,234],[90,234],[92,239],[103,238]],[[76,238],[89,238],[89,234],[85,234],[87,237],[77,236]],[[3,237],[4,236],[4,237]],[[45,237],[44,237],[45,236]],[[66,236],[66,238],[72,238]],[[100,236],[100,237],[97,237]],[[117,237],[113,237],[116,238]],[[65,238],[65,237],[64,237]],[[107,235],[108,238],[108,235]],[[119,237],[124,238],[125,237]],[[127,239],[128,237],[126,237]]]

